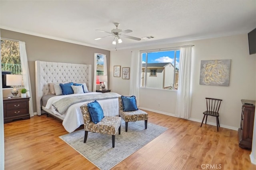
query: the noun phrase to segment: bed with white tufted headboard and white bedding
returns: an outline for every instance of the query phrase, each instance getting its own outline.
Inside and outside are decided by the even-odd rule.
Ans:
[[[90,64],[35,61],[35,73],[37,114],[41,115],[42,113],[46,113],[61,120],[62,125],[69,133],[80,127],[80,125],[84,124],[80,106],[88,102],[92,102],[95,99],[97,100],[98,96],[104,95],[104,93],[91,92],[92,81]],[[89,92],[68,95],[56,95],[57,92],[56,94],[50,93],[51,90],[49,84],[59,84],[66,82],[83,83],[86,85]],[[118,115],[118,96],[120,95],[114,93],[105,94],[112,94],[114,97],[99,98],[99,100],[97,100],[104,111],[104,115]],[[68,107],[68,109],[62,112],[62,114],[60,114],[56,107],[53,106],[53,104],[56,104],[58,100],[63,100],[63,98],[71,99],[83,96],[93,100],[83,100],[83,102],[72,104],[70,107]]]

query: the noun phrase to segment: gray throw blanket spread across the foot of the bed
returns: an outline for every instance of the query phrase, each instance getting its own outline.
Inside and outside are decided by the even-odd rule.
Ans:
[[[70,96],[66,98],[62,98],[57,102],[54,102],[52,106],[58,111],[61,115],[65,113],[65,111],[73,104],[80,103],[80,102],[88,102],[90,100],[104,100],[104,99],[112,99],[118,98],[121,96],[117,93],[100,93],[100,94],[88,94],[82,96]]]

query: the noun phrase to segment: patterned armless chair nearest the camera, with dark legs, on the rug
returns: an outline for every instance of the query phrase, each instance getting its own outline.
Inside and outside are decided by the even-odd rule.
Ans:
[[[84,119],[84,143],[86,143],[88,132],[102,133],[112,135],[112,147],[115,147],[115,135],[118,131],[121,133],[121,117],[105,116],[98,123],[94,123],[91,119],[87,104],[80,106]]]

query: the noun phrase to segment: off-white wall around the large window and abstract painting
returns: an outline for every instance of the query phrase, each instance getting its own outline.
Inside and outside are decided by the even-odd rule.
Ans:
[[[129,80],[113,77],[113,66],[130,67],[131,51],[146,50],[181,45],[195,45],[192,61],[192,112],[190,119],[202,121],[206,109],[205,98],[220,98],[220,126],[230,129],[240,127],[241,99],[255,100],[256,55],[249,55],[247,34],[204,39],[190,42],[154,45],[129,50],[110,52],[110,88],[112,92],[129,94]],[[229,86],[206,86],[199,84],[200,61],[212,59],[231,59]],[[176,91],[140,88],[140,108],[175,115]],[[214,117],[208,123],[216,124]]]

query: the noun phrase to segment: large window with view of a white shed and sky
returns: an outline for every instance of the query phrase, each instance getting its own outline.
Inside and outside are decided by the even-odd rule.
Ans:
[[[142,52],[140,85],[178,90],[180,50]]]

